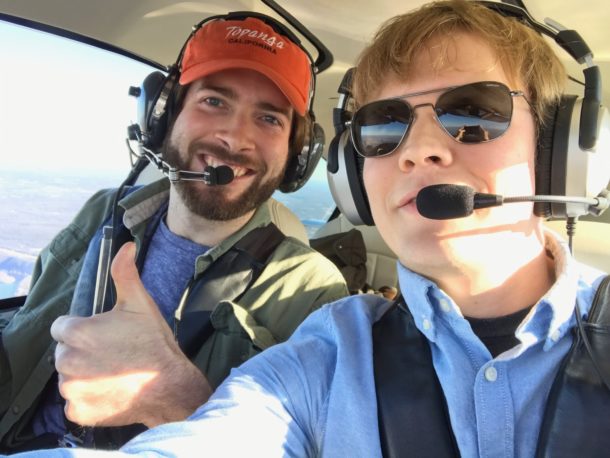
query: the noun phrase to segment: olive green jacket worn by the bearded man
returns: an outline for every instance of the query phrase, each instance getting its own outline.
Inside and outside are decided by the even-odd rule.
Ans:
[[[49,328],[60,315],[83,314],[72,304],[83,259],[94,234],[111,212],[115,190],[96,193],[40,253],[24,306],[2,331],[0,347],[0,442],[28,440],[22,431],[30,420],[41,391],[51,379],[54,341]],[[147,224],[169,196],[165,179],[142,187],[120,201],[123,223],[138,250]],[[201,255],[195,274],[207,269],[243,235],[271,221],[267,205],[235,234]],[[80,279],[80,281],[94,279]],[[232,367],[286,340],[313,310],[348,294],[345,280],[328,259],[302,242],[286,237],[271,255],[265,270],[240,298],[223,301],[211,315],[214,333],[193,362],[213,388]]]

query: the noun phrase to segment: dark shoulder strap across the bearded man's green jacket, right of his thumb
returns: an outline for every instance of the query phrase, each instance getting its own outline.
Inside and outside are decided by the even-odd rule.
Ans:
[[[273,223],[253,229],[191,280],[174,328],[180,348],[189,358],[212,334],[209,317],[216,304],[223,300],[238,301],[285,238]]]

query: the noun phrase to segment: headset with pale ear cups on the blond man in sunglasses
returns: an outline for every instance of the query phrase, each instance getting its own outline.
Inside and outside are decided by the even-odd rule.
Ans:
[[[582,97],[564,94],[549,110],[549,118],[540,127],[536,155],[535,185],[537,195],[592,196],[607,195],[610,170],[610,119],[601,105],[601,74],[582,37],[555,21],[535,21],[518,6],[492,1],[478,1],[499,14],[515,17],[534,30],[551,37],[579,64],[586,65]],[[547,25],[548,24],[548,25]],[[351,118],[351,79],[354,69],[343,77],[339,102],[333,111],[335,137],[328,151],[327,176],[337,207],[354,225],[374,225],[362,168],[364,158],[356,153],[347,125]],[[600,191],[601,190],[601,191]],[[574,216],[566,203],[536,202],[534,214],[546,219]],[[596,213],[593,213],[597,216]],[[582,216],[582,215],[577,215]]]

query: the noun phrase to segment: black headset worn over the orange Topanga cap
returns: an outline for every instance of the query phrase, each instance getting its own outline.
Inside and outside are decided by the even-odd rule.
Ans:
[[[315,115],[313,112],[315,77],[318,73],[332,65],[333,56],[326,46],[286,10],[281,8],[274,1],[263,1],[286,19],[290,25],[314,45],[318,52],[317,60],[314,62],[310,53],[288,27],[270,16],[250,11],[236,11],[225,15],[211,16],[202,20],[193,27],[178,54],[176,62],[168,68],[167,74],[155,71],[144,79],[140,87],[132,87],[129,90],[129,94],[138,99],[138,115],[137,124],[128,127],[128,138],[129,140],[137,140],[140,150],[148,150],[146,154],[136,153],[136,156],[146,156],[148,160],[159,166],[165,137],[179,112],[180,104],[182,102],[180,99],[181,94],[183,94],[184,91],[180,90],[181,86],[178,83],[182,59],[188,42],[194,37],[197,31],[206,23],[213,20],[240,20],[253,17],[263,21],[272,27],[275,32],[296,44],[307,55],[310,61],[311,85],[307,115],[304,118],[304,135],[295,135],[297,125],[296,123],[293,124],[288,164],[279,189],[284,193],[289,193],[297,191],[305,185],[322,156],[325,143],[324,130],[315,122]],[[296,138],[298,137],[303,137],[303,141],[297,141]],[[151,152],[154,153],[154,156]]]

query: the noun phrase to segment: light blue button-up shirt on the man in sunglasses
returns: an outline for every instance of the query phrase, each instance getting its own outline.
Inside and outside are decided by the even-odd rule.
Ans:
[[[449,296],[398,267],[400,289],[430,341],[464,457],[534,456],[545,401],[572,342],[574,305],[586,315],[604,276],[574,261],[550,234],[547,249],[557,281],[517,328],[520,343],[496,358]],[[388,306],[360,295],[323,307],[287,343],[234,369],[190,421],[150,430],[122,450],[145,456],[380,457],[371,328]],[[418,456],[417,449],[404,452]]]

